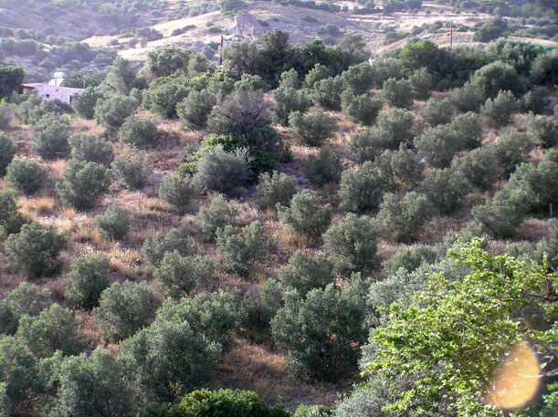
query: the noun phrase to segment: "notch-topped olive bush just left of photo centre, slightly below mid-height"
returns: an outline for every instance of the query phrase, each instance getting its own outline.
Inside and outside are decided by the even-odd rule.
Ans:
[[[246,277],[252,277],[255,266],[277,251],[277,241],[258,221],[243,227],[242,235],[235,235],[230,225],[217,229],[216,244],[226,270]]]

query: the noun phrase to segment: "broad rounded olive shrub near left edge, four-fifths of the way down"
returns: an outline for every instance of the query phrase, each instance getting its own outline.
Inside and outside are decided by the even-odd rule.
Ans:
[[[56,303],[35,318],[22,316],[16,337],[38,358],[48,358],[57,350],[64,355],[76,355],[88,345],[88,340],[79,333],[79,318]]]

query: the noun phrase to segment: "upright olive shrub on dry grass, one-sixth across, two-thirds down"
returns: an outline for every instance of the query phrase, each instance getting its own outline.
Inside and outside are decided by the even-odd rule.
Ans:
[[[72,308],[91,309],[99,304],[100,293],[109,287],[109,258],[106,255],[79,257],[71,265],[68,276],[71,287],[64,297]]]

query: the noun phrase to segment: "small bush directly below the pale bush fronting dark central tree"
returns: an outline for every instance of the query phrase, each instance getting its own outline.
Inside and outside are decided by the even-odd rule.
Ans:
[[[199,209],[195,216],[195,221],[202,235],[208,241],[216,238],[217,229],[224,229],[226,226],[237,224],[237,206],[226,201],[225,196],[216,194],[211,198],[208,206]]]

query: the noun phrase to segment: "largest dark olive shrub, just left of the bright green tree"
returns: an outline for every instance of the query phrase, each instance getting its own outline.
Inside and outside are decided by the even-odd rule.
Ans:
[[[287,350],[290,373],[303,380],[338,381],[356,368],[353,346],[362,344],[368,332],[367,287],[356,278],[341,294],[330,284],[312,289],[305,298],[297,291],[285,295],[285,307],[271,320],[271,333],[279,348]]]

